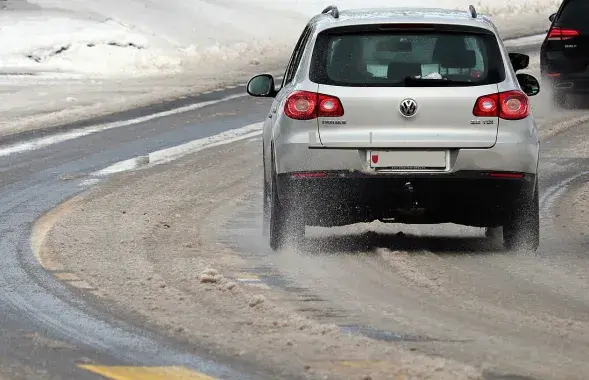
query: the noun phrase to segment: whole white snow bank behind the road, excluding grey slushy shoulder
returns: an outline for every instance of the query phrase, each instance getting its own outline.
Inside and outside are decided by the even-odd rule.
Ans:
[[[495,18],[548,15],[561,0],[482,0]],[[466,9],[473,0],[414,6]],[[317,0],[8,0],[0,9],[0,74],[129,77],[223,70],[290,52]],[[340,9],[402,6],[400,0],[341,0]],[[21,5],[16,5],[21,4]],[[225,65],[225,66],[223,66]]]

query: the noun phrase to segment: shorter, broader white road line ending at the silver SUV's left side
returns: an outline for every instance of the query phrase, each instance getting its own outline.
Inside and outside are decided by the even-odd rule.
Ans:
[[[148,155],[133,157],[128,160],[117,162],[102,170],[90,174],[91,179],[80,183],[79,186],[90,186],[100,181],[100,177],[106,177],[115,173],[121,173],[144,166],[155,166],[166,162],[177,160],[187,154],[199,152],[201,150],[215,146],[227,145],[239,140],[247,140],[258,137],[262,134],[264,123],[255,123],[245,127],[230,129],[217,135],[193,140],[185,144],[176,145],[170,148],[157,150]]]

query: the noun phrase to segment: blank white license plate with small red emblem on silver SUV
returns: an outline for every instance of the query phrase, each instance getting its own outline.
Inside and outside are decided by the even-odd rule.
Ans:
[[[447,166],[446,151],[369,151],[371,168],[391,170],[442,170]]]

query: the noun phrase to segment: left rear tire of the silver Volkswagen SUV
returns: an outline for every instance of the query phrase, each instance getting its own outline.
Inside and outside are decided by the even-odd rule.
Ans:
[[[280,202],[276,191],[276,175],[272,170],[272,184],[268,205],[269,242],[273,251],[284,248],[287,243],[298,248],[305,237],[305,223],[286,202]]]

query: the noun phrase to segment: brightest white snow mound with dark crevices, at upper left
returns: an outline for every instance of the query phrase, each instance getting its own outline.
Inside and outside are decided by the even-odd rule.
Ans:
[[[128,75],[176,67],[164,52],[148,49],[145,36],[113,20],[98,23],[20,12],[18,20],[14,16],[0,13],[2,74],[43,71]]]

